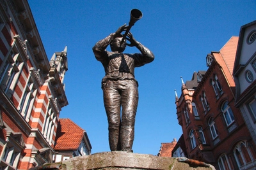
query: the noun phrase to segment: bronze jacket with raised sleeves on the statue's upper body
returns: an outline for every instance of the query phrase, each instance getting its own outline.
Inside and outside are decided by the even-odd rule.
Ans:
[[[102,83],[107,80],[135,80],[134,67],[143,66],[154,60],[154,54],[141,43],[138,43],[137,47],[141,53],[108,52],[106,47],[112,40],[113,36],[110,34],[93,46],[95,58],[102,63],[106,73]]]

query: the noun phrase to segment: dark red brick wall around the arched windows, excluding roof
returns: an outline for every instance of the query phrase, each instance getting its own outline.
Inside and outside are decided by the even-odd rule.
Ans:
[[[195,93],[193,94],[193,97],[189,96],[190,102],[193,101],[194,103],[196,103],[196,108],[198,114],[200,115],[200,120],[196,120],[194,115],[188,110],[190,124],[186,126],[186,120],[182,109],[188,107],[189,105],[186,104],[186,101],[184,99],[183,101],[179,101],[176,103],[177,113],[180,113],[179,116],[181,116],[178,118],[179,122],[182,122],[180,125],[182,125],[182,131],[186,143],[188,157],[191,159],[202,160],[204,162],[214,164],[214,166],[218,166],[216,162],[218,161],[218,157],[220,157],[222,153],[232,153],[237,143],[242,140],[250,140],[250,133],[246,128],[246,125],[244,124],[243,117],[239,109],[234,106],[234,91],[232,87],[230,87],[230,85],[233,84],[230,83],[230,81],[234,80],[227,81],[227,74],[230,73],[224,74],[223,69],[221,68],[223,67],[220,67],[218,64],[216,64],[215,66],[212,65],[207,71],[206,80],[204,79],[204,81],[202,81],[200,85],[198,85]],[[220,81],[222,86],[223,94],[220,96],[219,99],[216,99],[216,94],[211,84],[211,79],[214,78],[214,74],[218,76],[218,80]],[[210,110],[207,112],[204,111],[202,102],[200,100],[200,96],[202,96],[203,92],[205,92],[207,101],[209,103]],[[184,90],[184,93],[186,94],[188,92]],[[181,99],[182,97],[180,97],[180,100]],[[230,106],[230,108],[232,109],[235,117],[234,121],[237,125],[236,129],[234,129],[234,131],[232,132],[228,132],[228,127],[225,123],[225,118],[223,117],[223,113],[221,111],[221,106],[225,101],[228,102],[228,106]],[[214,118],[216,129],[218,129],[218,138],[220,139],[220,142],[218,142],[216,145],[214,145],[212,141],[211,131],[208,125],[209,118],[211,117]],[[198,139],[196,138],[196,147],[192,149],[191,141],[189,138],[189,131],[191,129],[197,130],[198,126],[203,127],[205,141],[207,144],[200,145]],[[194,135],[196,137],[196,135],[198,134],[196,134],[195,132]],[[253,145],[252,147],[255,150],[255,146]],[[234,161],[236,160],[233,159],[233,163]]]

